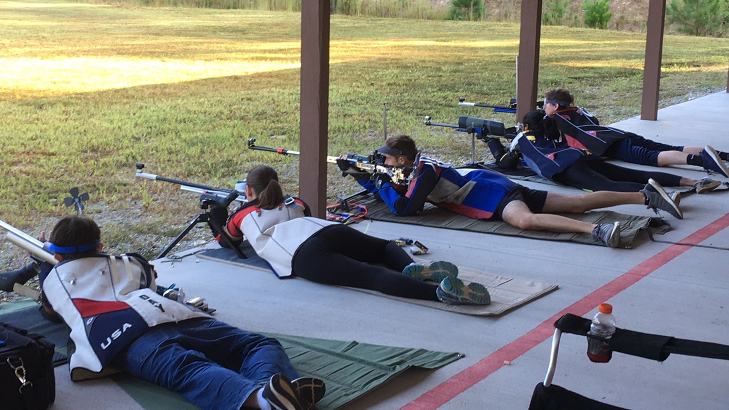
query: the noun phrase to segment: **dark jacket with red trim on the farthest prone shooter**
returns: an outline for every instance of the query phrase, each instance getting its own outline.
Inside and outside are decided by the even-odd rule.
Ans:
[[[631,135],[617,128],[600,125],[597,118],[580,107],[561,109],[552,118],[569,146],[587,149],[597,155],[602,155],[613,143]]]

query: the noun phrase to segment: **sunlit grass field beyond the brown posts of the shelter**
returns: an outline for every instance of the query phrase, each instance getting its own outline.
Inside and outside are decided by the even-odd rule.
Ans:
[[[332,16],[330,154],[367,154],[389,133],[464,162],[467,135],[426,127],[459,115],[500,119],[459,96],[514,96],[518,25]],[[660,103],[725,87],[729,40],[666,36]],[[295,157],[246,149],[298,149],[300,15],[143,8],[62,1],[0,1],[0,216],[28,231],[70,212],[72,186],[114,251],[168,241],[197,199],[150,173],[232,187],[254,165],[281,170],[297,192]],[[539,86],[573,90],[609,123],[639,114],[644,35],[545,27]],[[485,147],[480,147],[481,149]],[[483,150],[482,150],[483,151]],[[354,190],[330,167],[330,197]],[[0,264],[15,254],[3,245]]]

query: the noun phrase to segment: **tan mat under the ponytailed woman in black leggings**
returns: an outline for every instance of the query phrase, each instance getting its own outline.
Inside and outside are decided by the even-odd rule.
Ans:
[[[198,258],[208,259],[211,261],[219,261],[225,264],[234,264],[240,267],[249,267],[252,269],[270,272],[268,263],[257,256],[247,242],[243,243],[241,249],[244,253],[246,253],[246,256],[249,256],[248,259],[240,259],[237,255],[235,255],[235,252],[225,248],[204,251],[203,253],[198,253],[196,256],[198,256]],[[424,260],[418,261],[422,262]],[[463,313],[464,315],[492,316],[501,315],[507,310],[529,303],[529,301],[537,299],[540,296],[544,296],[558,288],[557,285],[532,282],[531,280],[515,279],[513,277],[504,277],[464,267],[459,267],[459,277],[467,282],[477,282],[485,285],[486,288],[488,288],[488,292],[491,293],[491,304],[486,306],[457,306],[440,303],[439,301],[426,301],[390,296],[378,291],[370,291],[368,289],[349,289],[364,293],[371,293],[373,295],[389,299],[397,299],[407,303],[419,304],[425,307],[432,307],[434,309],[445,310],[448,312]]]

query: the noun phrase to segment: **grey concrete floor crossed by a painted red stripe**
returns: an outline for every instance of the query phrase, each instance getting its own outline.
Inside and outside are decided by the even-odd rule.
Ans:
[[[658,122],[628,119],[615,126],[667,143],[709,143],[729,150],[727,118],[729,94],[719,92],[662,109]],[[698,169],[673,171],[694,178],[706,175]],[[674,229],[660,239],[729,246],[729,193],[693,194],[681,205],[685,219],[666,215]],[[615,209],[652,215],[638,205]],[[644,236],[634,249],[624,250],[386,222],[355,227],[386,239],[420,240],[433,259],[560,288],[500,317],[483,318],[306,280],[278,280],[273,274],[195,256],[174,267],[157,263],[158,281],[182,285],[188,296],[206,297],[218,309],[217,318],[252,331],[466,354],[437,371],[406,372],[346,410],[526,409],[534,385],[545,377],[554,320],[566,312],[591,317],[604,301],[613,304],[620,327],[729,343],[727,251],[652,243]],[[610,363],[596,364],[585,350],[584,338],[563,336],[555,384],[634,410],[729,409],[727,361],[674,355],[657,363],[616,353]],[[88,397],[87,385],[71,385],[65,368],[59,369],[58,379],[54,409],[75,408],[69,393]],[[93,383],[99,389],[93,395],[107,397],[106,405],[98,398],[96,408],[137,408],[118,398],[113,382]]]

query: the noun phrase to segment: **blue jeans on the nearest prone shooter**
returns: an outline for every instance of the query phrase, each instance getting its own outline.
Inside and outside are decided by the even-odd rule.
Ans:
[[[300,377],[276,339],[211,318],[155,326],[112,365],[203,410],[239,410],[273,374]]]

